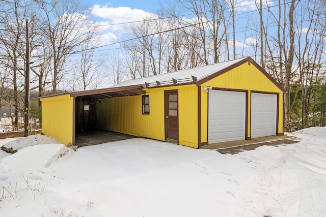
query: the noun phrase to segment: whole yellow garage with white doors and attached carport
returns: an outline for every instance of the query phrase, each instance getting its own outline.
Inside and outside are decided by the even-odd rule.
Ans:
[[[42,98],[42,130],[64,144],[98,129],[195,148],[283,135],[284,91],[245,57]]]

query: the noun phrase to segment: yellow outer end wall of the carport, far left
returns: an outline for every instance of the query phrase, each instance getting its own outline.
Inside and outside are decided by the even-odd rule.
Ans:
[[[73,98],[42,98],[42,133],[67,145],[72,143]]]

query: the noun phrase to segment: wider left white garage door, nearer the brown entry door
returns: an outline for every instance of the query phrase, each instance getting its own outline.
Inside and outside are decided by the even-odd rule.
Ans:
[[[208,92],[208,143],[242,140],[246,134],[246,93]]]

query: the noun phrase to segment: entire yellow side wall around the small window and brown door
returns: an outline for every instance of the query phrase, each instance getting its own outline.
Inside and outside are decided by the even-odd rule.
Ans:
[[[179,144],[197,148],[196,85],[145,89],[150,114],[142,114],[141,96],[103,99],[96,103],[96,127],[164,141],[164,90],[171,89],[178,89],[179,95]]]

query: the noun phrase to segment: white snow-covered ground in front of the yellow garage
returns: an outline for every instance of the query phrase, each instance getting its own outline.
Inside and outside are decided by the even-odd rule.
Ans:
[[[291,135],[301,142],[234,155],[142,138],[76,151],[22,138],[28,147],[0,150],[0,216],[326,216],[326,128]]]

